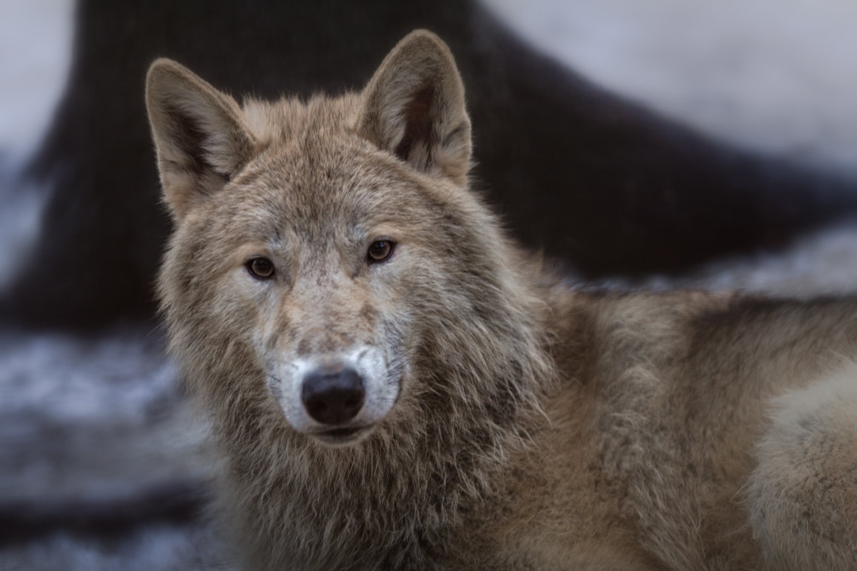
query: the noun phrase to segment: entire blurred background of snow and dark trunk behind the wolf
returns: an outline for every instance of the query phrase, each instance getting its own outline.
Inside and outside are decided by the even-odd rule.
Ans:
[[[153,316],[147,63],[353,89],[413,27],[457,57],[477,185],[578,282],[854,291],[853,2],[3,0],[0,569],[234,568]]]

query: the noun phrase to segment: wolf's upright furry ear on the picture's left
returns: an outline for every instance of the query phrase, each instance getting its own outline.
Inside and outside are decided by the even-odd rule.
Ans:
[[[246,165],[255,137],[235,99],[170,59],[149,68],[146,106],[165,200],[182,219]]]

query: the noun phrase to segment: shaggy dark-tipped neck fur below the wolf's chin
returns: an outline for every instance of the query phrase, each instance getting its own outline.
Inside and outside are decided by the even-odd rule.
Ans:
[[[237,502],[243,513],[231,517],[244,520],[251,552],[290,543],[284,568],[432,568],[461,544],[469,514],[494,494],[508,456],[525,446],[520,420],[533,414],[525,407],[452,416],[426,410],[432,422],[415,427],[414,418],[393,418],[354,448],[283,434],[279,446],[246,450],[238,463],[233,451],[226,485],[247,496]]]

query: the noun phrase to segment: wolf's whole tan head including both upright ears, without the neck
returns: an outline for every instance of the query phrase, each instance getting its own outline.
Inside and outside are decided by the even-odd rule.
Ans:
[[[547,366],[515,254],[467,189],[464,87],[434,34],[362,93],[306,102],[239,106],[158,60],[147,106],[176,222],[171,348],[220,416],[285,413],[333,446],[414,416],[502,423]]]

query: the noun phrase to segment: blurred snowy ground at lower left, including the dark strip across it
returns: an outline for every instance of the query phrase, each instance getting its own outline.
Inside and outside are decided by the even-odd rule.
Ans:
[[[213,569],[214,461],[161,335],[0,331],[0,571]]]

